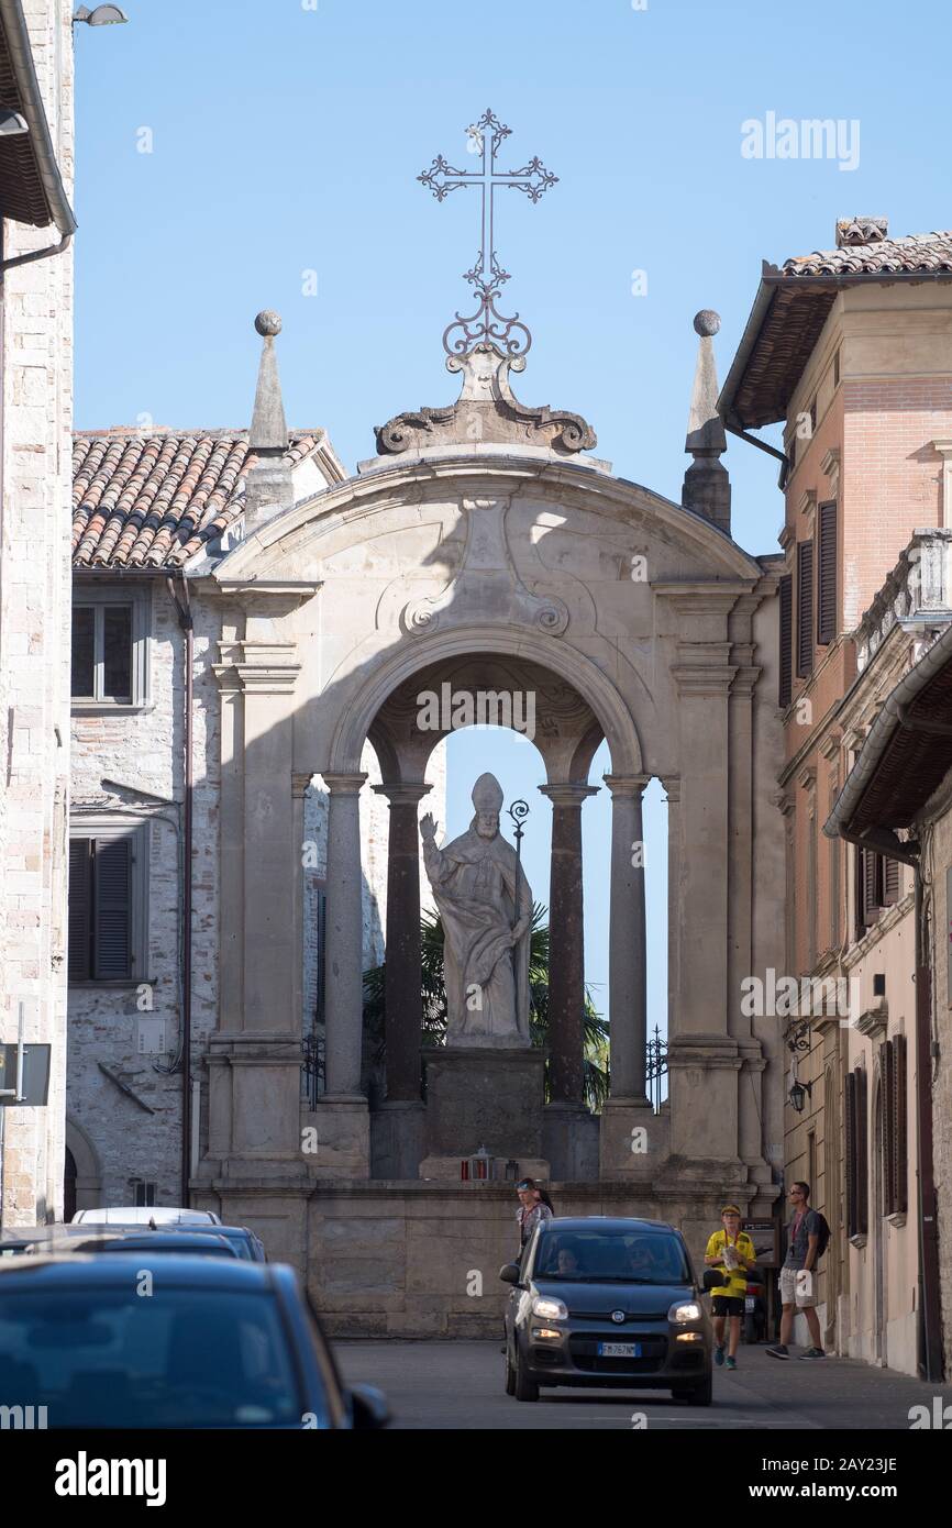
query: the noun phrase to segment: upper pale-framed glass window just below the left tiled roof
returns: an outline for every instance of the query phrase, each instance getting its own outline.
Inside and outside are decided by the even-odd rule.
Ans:
[[[73,593],[70,694],[73,706],[147,701],[148,591]]]

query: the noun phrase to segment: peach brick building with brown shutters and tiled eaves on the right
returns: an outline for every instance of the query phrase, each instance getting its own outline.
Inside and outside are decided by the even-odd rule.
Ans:
[[[784,970],[831,984],[828,995],[840,984],[848,998],[850,979],[859,984],[856,1015],[836,998],[830,1012],[821,992],[824,1012],[810,1001],[810,1012],[779,1019],[792,1062],[787,1174],[811,1183],[813,1204],[833,1230],[819,1277],[827,1345],[906,1369],[921,1351],[915,1221],[909,1215],[900,1224],[903,1212],[889,1207],[877,1177],[882,1157],[869,1149],[860,1170],[848,1143],[874,1143],[877,1129],[889,1135],[876,1063],[880,1044],[902,1050],[915,1027],[912,880],[897,856],[874,845],[854,853],[824,837],[822,827],[895,666],[915,648],[915,625],[906,631],[900,622],[857,681],[857,652],[876,646],[889,601],[880,588],[917,527],[947,526],[950,324],[952,234],[889,238],[883,219],[845,220],[836,249],[764,267],[720,400],[727,428],[749,439],[752,429],[784,423]],[[900,604],[918,597],[920,555],[932,556],[926,542],[912,542],[912,561],[892,575]],[[909,1044],[906,1108],[914,1118]],[[802,1091],[793,1091],[798,1080]],[[895,1170],[899,1158],[889,1160]],[[908,1177],[909,1157],[906,1169]],[[856,1221],[859,1181],[848,1192],[854,1170],[862,1192],[873,1195],[868,1215],[877,1216],[868,1241]]]

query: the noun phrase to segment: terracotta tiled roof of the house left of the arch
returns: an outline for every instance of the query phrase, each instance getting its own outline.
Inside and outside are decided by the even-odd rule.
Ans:
[[[292,431],[292,466],[322,429]],[[248,431],[107,429],[73,435],[73,567],[180,567],[244,509]]]

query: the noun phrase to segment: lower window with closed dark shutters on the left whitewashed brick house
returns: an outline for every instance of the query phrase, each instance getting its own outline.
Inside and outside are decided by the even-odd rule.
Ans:
[[[69,843],[69,979],[145,979],[147,827],[102,825]]]

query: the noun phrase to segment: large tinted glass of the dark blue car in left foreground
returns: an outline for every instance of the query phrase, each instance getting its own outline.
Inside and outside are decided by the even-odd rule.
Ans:
[[[139,1284],[0,1290],[5,1404],[46,1406],[47,1427],[300,1427],[315,1410],[272,1294]]]

